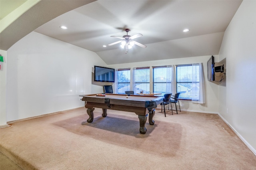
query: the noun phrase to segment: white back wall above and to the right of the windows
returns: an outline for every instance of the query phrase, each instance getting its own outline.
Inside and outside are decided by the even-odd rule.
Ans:
[[[218,61],[218,55],[214,55],[215,60]],[[135,63],[125,64],[114,64],[108,65],[111,68],[132,68],[132,67],[146,67],[146,66],[162,66],[162,65],[179,65],[179,64],[192,64],[192,63],[203,63],[204,68],[204,79],[205,79],[205,90],[206,90],[206,103],[198,104],[190,101],[181,101],[180,104],[184,103],[182,110],[196,111],[202,113],[218,113],[218,83],[210,82],[207,80],[207,61],[210,56],[200,57],[187,57],[179,59],[165,59],[157,61],[144,61]]]

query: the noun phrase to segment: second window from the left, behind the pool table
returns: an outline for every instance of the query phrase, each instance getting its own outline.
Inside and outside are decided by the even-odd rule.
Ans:
[[[134,94],[150,93],[149,88],[150,70],[149,67],[134,68]]]

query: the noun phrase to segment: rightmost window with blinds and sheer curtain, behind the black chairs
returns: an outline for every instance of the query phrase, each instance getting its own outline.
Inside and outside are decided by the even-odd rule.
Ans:
[[[204,103],[202,63],[176,65],[176,89],[180,99]]]

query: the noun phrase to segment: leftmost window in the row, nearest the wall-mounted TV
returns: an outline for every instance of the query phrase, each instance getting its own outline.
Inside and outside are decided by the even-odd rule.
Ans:
[[[130,68],[129,69],[118,69],[117,72],[117,93],[125,94],[125,91],[130,91]]]

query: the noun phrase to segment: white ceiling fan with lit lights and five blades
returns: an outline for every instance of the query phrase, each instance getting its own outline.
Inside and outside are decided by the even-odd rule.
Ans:
[[[128,32],[130,31],[130,29],[125,28],[124,31],[126,32],[126,35],[124,35],[123,37],[110,36],[110,37],[115,37],[115,38],[119,38],[119,39],[122,39],[122,40],[117,41],[117,42],[110,43],[110,44],[108,44],[108,45],[110,46],[110,45],[114,45],[114,44],[117,44],[117,43],[121,43],[120,46],[121,46],[122,48],[125,47],[125,49],[126,49],[126,52],[125,52],[125,53],[127,53],[128,49],[132,48],[132,46],[133,46],[134,44],[136,44],[136,45],[138,45],[138,46],[140,46],[140,47],[142,47],[142,48],[146,48],[146,47],[147,47],[146,45],[144,45],[144,44],[142,44],[142,43],[138,43],[138,42],[134,41],[135,38],[138,38],[138,37],[143,36],[142,34],[138,33],[138,34],[135,34],[134,36],[129,36],[129,35],[128,35]]]

